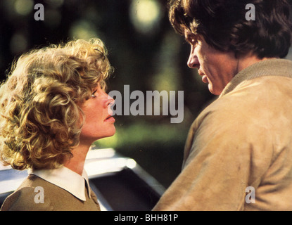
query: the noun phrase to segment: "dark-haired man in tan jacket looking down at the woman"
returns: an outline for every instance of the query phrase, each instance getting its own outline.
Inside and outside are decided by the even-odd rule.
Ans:
[[[169,15],[189,68],[219,97],[191,125],[182,172],[153,210],[292,210],[288,1],[174,0]]]

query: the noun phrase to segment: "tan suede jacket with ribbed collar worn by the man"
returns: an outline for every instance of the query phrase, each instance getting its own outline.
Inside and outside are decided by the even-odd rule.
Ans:
[[[153,210],[292,210],[292,61],[255,63],[227,84]]]

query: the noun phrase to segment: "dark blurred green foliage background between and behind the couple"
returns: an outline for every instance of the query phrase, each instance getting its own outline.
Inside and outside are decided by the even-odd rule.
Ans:
[[[34,20],[35,4],[44,20]],[[214,100],[196,70],[186,66],[189,45],[172,29],[167,0],[1,0],[0,75],[22,53],[70,39],[99,37],[115,68],[108,91],[184,91],[184,121],[171,116],[115,116],[117,132],[96,141],[134,158],[166,188],[182,167],[184,142],[198,113]]]

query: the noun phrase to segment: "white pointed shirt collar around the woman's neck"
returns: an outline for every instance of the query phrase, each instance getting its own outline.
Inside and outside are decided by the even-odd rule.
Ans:
[[[30,169],[28,174],[34,174],[42,179],[55,184],[65,191],[68,191],[76,198],[82,201],[86,201],[85,197],[85,181],[87,182],[88,195],[90,197],[90,188],[87,172],[83,169],[82,176],[73,172],[67,167],[61,167],[58,169]]]

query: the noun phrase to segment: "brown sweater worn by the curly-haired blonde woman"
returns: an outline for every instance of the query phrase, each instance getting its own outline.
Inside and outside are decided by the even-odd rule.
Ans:
[[[36,187],[44,188],[44,203],[36,202]],[[1,211],[99,211],[96,195],[92,190],[90,193],[91,198],[86,188],[86,200],[82,201],[63,188],[30,174],[23,184],[6,198]]]

